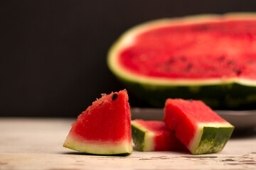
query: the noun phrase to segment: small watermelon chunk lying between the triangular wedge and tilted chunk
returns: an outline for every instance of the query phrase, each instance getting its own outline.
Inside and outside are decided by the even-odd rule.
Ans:
[[[172,151],[185,149],[161,121],[132,120],[132,140],[139,151]]]

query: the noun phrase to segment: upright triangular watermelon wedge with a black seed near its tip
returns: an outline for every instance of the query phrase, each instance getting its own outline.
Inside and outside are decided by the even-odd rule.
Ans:
[[[63,147],[90,154],[132,152],[131,113],[126,90],[103,94],[78,116]]]

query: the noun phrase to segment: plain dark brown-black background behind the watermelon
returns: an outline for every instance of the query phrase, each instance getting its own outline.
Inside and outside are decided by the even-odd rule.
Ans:
[[[255,11],[256,1],[1,1],[0,116],[75,117],[124,87],[107,69],[110,45],[156,18]],[[129,94],[131,106],[146,106]]]

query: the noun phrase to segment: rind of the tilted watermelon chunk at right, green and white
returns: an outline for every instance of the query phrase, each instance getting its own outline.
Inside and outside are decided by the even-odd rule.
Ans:
[[[230,139],[234,127],[232,125],[221,127],[220,125],[217,127],[199,125],[194,139],[188,146],[190,152],[192,154],[210,154],[222,151]]]

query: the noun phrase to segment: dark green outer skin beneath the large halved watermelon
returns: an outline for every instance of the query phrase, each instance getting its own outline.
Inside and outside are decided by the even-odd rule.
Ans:
[[[140,84],[121,79],[124,86],[134,95],[148,101],[152,106],[163,107],[166,98],[197,99],[214,109],[250,109],[255,107],[256,86],[237,83],[213,85],[171,85],[157,86]]]

